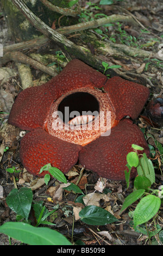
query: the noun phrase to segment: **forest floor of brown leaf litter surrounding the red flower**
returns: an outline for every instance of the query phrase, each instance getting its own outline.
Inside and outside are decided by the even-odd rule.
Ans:
[[[85,16],[83,19],[90,19],[90,15],[96,15],[103,13],[105,15],[112,14],[128,14],[133,15],[137,22],[137,27],[124,23],[116,23],[115,26],[98,27],[96,29],[90,29],[88,33],[93,34],[101,44],[107,44],[107,42],[126,45],[127,47],[134,47],[135,49],[145,50],[151,52],[152,58],[145,57],[122,57],[117,56],[117,59],[109,56],[109,54],[102,54],[97,45],[89,44],[86,42],[86,36],[83,32],[75,33],[74,36],[68,36],[70,40],[76,44],[87,46],[94,52],[95,55],[101,57],[103,61],[111,61],[113,65],[121,65],[122,72],[130,76],[135,74],[135,77],[139,81],[145,82],[146,86],[151,90],[150,97],[146,103],[146,106],[150,100],[159,97],[163,99],[163,54],[159,56],[159,45],[163,43],[163,3],[162,0],[151,1],[120,1],[117,2],[119,8],[113,7],[113,5],[102,5],[102,10],[98,10],[96,6],[99,1],[91,1],[91,7],[86,4],[87,1],[80,1],[79,4],[82,8],[85,8]],[[94,5],[93,5],[94,4]],[[115,4],[115,5],[116,5]],[[98,5],[99,6],[99,5]],[[90,14],[90,10],[92,14]],[[12,41],[7,21],[3,14],[3,10],[0,9],[0,44],[3,46],[14,44]],[[67,63],[69,56],[56,47],[53,42],[48,42],[39,49],[35,48],[28,53],[41,53],[48,54],[49,48],[53,47],[53,54],[61,63],[61,68]],[[97,48],[96,48],[97,47]],[[1,58],[1,57],[0,57]],[[62,60],[64,64],[62,64]],[[49,64],[49,63],[47,63]],[[2,69],[4,69],[2,72]],[[32,69],[32,68],[31,68]],[[37,86],[43,81],[50,79],[50,76],[46,76],[42,71],[32,69],[32,76],[34,85]],[[132,80],[132,76],[131,76]],[[134,80],[134,76],[133,76]],[[73,241],[83,241],[86,245],[149,245],[158,244],[158,236],[153,235],[149,237],[145,234],[141,234],[134,230],[132,226],[132,219],[129,215],[130,211],[133,211],[137,202],[130,206],[130,209],[122,212],[120,210],[124,199],[133,192],[134,181],[130,181],[129,188],[126,188],[126,181],[112,181],[106,180],[105,193],[99,193],[95,189],[96,182],[98,181],[98,175],[84,170],[83,177],[78,184],[79,188],[84,194],[91,194],[91,204],[97,205],[101,208],[107,209],[113,214],[119,222],[106,224],[102,226],[89,225],[80,221],[80,218],[74,220],[73,209],[78,211],[82,203],[74,202],[77,194],[73,192],[61,193],[59,196],[55,194],[55,188],[60,186],[54,179],[51,180],[48,187],[46,184],[42,184],[42,179],[37,179],[33,175],[27,174],[24,171],[19,156],[19,144],[20,144],[20,132],[21,129],[11,127],[7,125],[7,120],[14,99],[18,93],[22,90],[21,78],[17,70],[15,62],[9,62],[0,68],[0,222],[1,225],[4,222],[15,221],[16,214],[11,211],[5,202],[5,198],[10,191],[17,186],[20,188],[23,186],[33,187],[33,199],[35,202],[43,201],[43,204],[49,211],[54,209],[54,206],[58,207],[55,215],[48,217],[48,221],[55,223],[55,230],[58,230],[61,234],[64,234],[68,238],[73,234]],[[152,162],[155,167],[156,180],[153,188],[158,188],[163,185],[163,157],[156,147],[155,141],[158,141],[163,146],[163,130],[162,120],[155,117],[148,117],[146,112],[146,106],[143,109],[140,117],[136,120],[136,124],[143,129],[145,135],[151,134],[152,137],[148,138],[148,144],[151,145],[151,151],[153,157]],[[8,147],[8,148],[6,148]],[[15,167],[16,170],[21,170],[20,173],[9,173],[8,168]],[[70,182],[76,182],[79,172],[81,170],[80,164],[76,164],[72,168],[72,173],[67,176],[67,180]],[[86,185],[87,184],[87,185]],[[91,184],[91,185],[89,185]],[[86,185],[86,190],[85,190]],[[101,197],[99,197],[101,194]],[[103,195],[103,196],[102,196]],[[58,197],[60,198],[58,200]],[[89,197],[85,198],[85,204],[89,204]],[[82,206],[83,207],[83,206]],[[30,213],[29,220],[31,223],[35,223],[33,212]],[[162,208],[160,208],[159,215],[156,217],[156,223],[163,227],[163,214]],[[155,230],[153,222],[147,223],[147,228]],[[50,226],[48,226],[50,227]],[[53,228],[53,226],[52,226]],[[73,230],[73,231],[72,231]],[[11,239],[12,245],[20,244],[19,241]],[[9,245],[9,239],[7,235],[0,234],[0,245]]]

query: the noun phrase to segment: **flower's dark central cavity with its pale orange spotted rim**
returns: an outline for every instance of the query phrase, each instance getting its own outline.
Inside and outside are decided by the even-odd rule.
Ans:
[[[81,88],[52,103],[45,130],[64,141],[84,146],[99,136],[109,136],[117,122],[108,94]]]

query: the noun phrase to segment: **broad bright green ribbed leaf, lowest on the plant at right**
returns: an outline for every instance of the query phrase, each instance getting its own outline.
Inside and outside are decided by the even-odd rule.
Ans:
[[[153,194],[143,197],[134,211],[134,228],[136,228],[137,225],[151,220],[151,218],[158,212],[160,205],[161,199]]]

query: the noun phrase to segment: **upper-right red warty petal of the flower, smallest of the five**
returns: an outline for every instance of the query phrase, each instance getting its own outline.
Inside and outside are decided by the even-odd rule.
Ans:
[[[115,107],[117,120],[121,120],[126,115],[136,119],[149,97],[147,87],[117,76],[109,79],[104,89]]]

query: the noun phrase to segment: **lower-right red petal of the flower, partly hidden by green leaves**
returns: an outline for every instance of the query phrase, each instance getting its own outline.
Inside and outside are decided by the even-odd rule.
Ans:
[[[149,148],[143,133],[131,120],[124,119],[111,129],[110,136],[99,137],[86,145],[79,153],[79,161],[99,176],[112,180],[124,180],[127,154],[133,151],[131,144],[143,147],[149,156]],[[142,151],[141,151],[142,153]],[[131,178],[136,175],[132,168]]]

